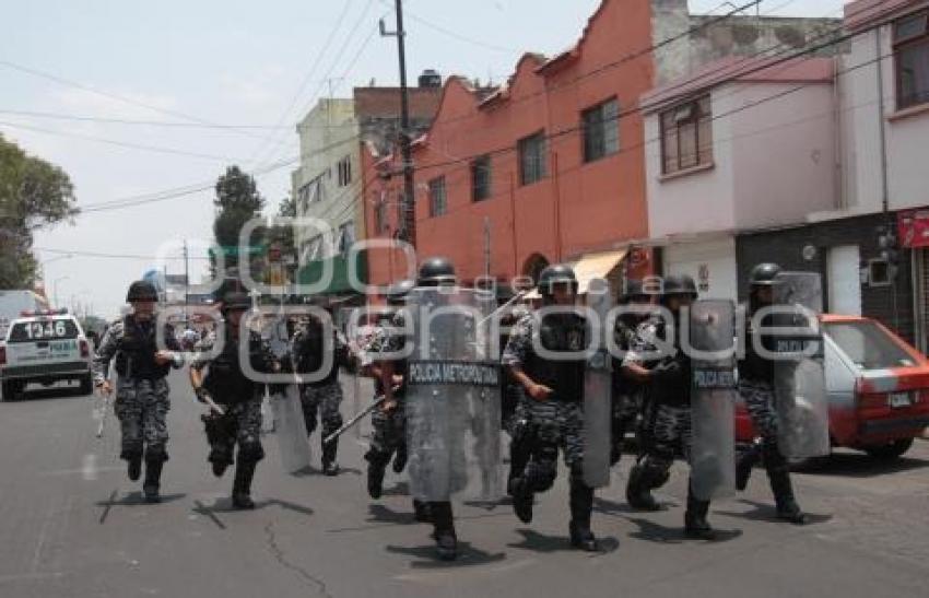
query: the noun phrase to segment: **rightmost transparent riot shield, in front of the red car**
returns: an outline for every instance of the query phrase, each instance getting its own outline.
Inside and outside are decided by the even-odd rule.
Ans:
[[[823,307],[820,274],[780,272],[775,282],[778,310],[772,323],[778,445],[791,460],[828,455],[828,399],[818,319]]]

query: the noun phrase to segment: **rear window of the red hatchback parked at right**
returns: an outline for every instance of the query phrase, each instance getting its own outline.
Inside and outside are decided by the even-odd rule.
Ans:
[[[916,365],[909,353],[872,321],[827,323],[825,331],[861,370]]]

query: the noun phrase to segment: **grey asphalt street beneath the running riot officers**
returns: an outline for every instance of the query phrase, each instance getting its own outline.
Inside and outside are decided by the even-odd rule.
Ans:
[[[264,436],[254,512],[228,501],[232,471],[215,479],[184,372],[170,378],[170,460],[165,502],[146,505],[118,457],[110,414],[96,438],[92,397],[33,390],[0,403],[0,596],[914,596],[929,579],[929,442],[879,464],[839,452],[795,476],[812,523],[774,520],[763,470],[713,505],[716,542],[683,538],[686,468],[657,493],[659,513],[623,497],[630,457],[598,491],[593,530],[603,552],[571,550],[567,484],[541,495],[531,526],[507,504],[456,507],[462,555],[433,559],[430,527],[415,524],[402,476],[386,496],[365,491],[365,433],[341,445],[342,473],[287,476]],[[353,412],[346,383],[343,412]],[[369,386],[363,385],[363,388]],[[362,398],[366,402],[369,394]],[[315,467],[319,441],[313,438]]]

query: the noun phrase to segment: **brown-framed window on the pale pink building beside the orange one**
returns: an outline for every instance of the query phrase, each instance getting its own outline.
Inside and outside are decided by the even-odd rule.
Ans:
[[[708,95],[661,113],[661,159],[666,175],[713,163]]]

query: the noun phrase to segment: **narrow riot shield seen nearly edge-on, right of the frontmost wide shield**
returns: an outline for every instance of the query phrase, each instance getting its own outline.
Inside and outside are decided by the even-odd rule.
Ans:
[[[597,347],[584,372],[584,481],[591,488],[610,484],[611,360],[607,344],[607,316],[613,300],[603,279],[590,281],[587,307],[591,312],[588,338]]]

